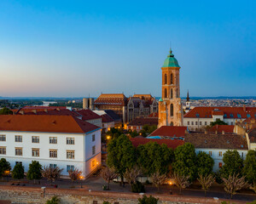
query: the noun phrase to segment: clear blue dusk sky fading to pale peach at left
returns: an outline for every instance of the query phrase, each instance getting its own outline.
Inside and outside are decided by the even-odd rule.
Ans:
[[[256,95],[256,1],[0,1],[0,96]]]

